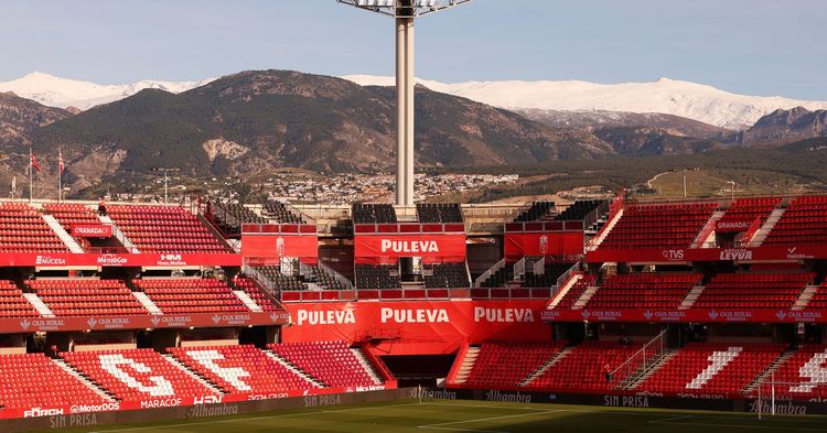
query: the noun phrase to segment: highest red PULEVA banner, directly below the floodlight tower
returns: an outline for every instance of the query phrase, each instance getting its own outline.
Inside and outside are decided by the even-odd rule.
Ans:
[[[357,263],[395,263],[400,257],[421,257],[425,262],[465,260],[465,234],[355,235]]]

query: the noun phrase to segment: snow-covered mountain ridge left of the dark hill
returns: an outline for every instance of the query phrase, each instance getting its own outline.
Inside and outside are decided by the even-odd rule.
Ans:
[[[142,80],[123,85],[99,85],[33,72],[11,82],[0,82],[0,91],[13,91],[22,98],[32,99],[50,107],[75,107],[85,110],[96,105],[123,99],[146,88],[157,88],[178,94],[212,80],[212,78],[176,83]]]

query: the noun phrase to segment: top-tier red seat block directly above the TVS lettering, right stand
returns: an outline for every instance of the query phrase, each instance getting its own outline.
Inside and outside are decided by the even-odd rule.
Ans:
[[[600,248],[688,248],[716,207],[715,203],[626,206]]]

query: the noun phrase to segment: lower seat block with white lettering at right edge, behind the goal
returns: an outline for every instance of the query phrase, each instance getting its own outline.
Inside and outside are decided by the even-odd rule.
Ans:
[[[775,397],[781,400],[827,398],[827,345],[804,345],[775,370]],[[796,385],[790,385],[796,383]],[[763,392],[771,392],[763,388]]]

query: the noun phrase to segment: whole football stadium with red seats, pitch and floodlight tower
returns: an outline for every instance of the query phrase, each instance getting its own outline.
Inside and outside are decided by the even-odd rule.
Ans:
[[[396,20],[396,202],[40,199],[30,147],[1,432],[827,431],[827,195],[417,203],[414,21],[468,0],[339,2]]]

